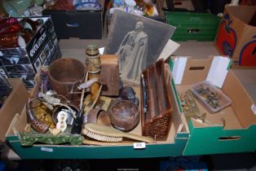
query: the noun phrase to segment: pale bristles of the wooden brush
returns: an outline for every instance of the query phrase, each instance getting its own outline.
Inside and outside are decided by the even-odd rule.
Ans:
[[[82,130],[82,133],[85,134],[87,137],[96,139],[101,142],[121,142],[122,141],[121,137],[111,137],[108,135],[97,134],[97,133],[90,132],[90,130],[87,130],[85,128]]]

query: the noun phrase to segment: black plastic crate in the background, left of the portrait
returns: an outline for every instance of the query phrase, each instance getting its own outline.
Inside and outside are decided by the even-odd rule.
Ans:
[[[43,15],[51,15],[58,39],[79,37],[81,39],[101,39],[103,35],[103,11],[54,11],[44,10]]]

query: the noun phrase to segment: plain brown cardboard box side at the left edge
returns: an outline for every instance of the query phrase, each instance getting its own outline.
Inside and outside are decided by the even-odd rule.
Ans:
[[[16,113],[22,112],[29,99],[29,93],[20,78],[8,78],[7,80],[11,84],[12,91],[0,109],[0,142],[5,142],[5,135],[13,117]]]

